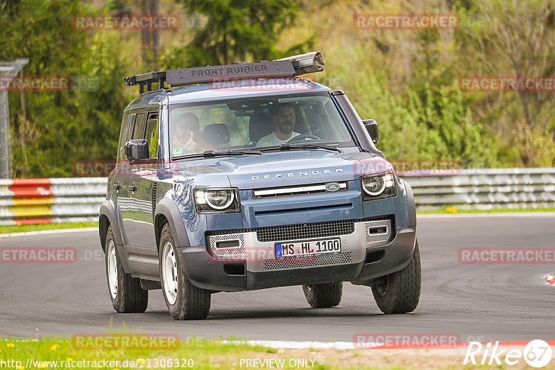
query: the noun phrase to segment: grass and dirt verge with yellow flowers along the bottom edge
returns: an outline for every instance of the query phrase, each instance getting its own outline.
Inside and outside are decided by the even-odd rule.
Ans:
[[[118,335],[116,335],[118,336]],[[147,335],[138,335],[148,337]],[[171,335],[170,335],[171,336]],[[102,340],[103,343],[109,343]],[[76,340],[0,339],[2,369],[491,369],[463,365],[466,348],[454,349],[270,349],[221,341],[189,340],[171,349],[83,348]],[[112,342],[113,343],[113,342]],[[502,368],[502,367],[498,367]],[[512,369],[512,367],[511,367]],[[517,366],[515,369],[522,369]],[[547,367],[545,369],[553,369]]]

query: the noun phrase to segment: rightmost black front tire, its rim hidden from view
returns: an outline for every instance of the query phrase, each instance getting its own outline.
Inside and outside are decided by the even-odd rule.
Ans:
[[[385,314],[412,312],[420,300],[420,252],[418,241],[411,263],[404,269],[379,277],[372,282],[377,306]]]

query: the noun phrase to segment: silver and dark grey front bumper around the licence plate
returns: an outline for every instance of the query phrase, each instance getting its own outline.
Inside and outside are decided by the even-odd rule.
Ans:
[[[305,235],[310,236],[307,224],[293,225],[296,229],[288,234],[293,236],[289,240],[282,240],[279,234],[261,234],[260,229],[219,231],[207,236],[207,247],[180,248],[180,261],[191,283],[207,290],[236,292],[330,281],[365,284],[401,270],[411,261],[416,228],[395,227],[394,218],[388,220],[388,224],[383,218],[355,220],[351,222],[354,231],[348,234],[302,238],[341,238],[341,252],[334,254],[275,258],[274,243],[299,240],[294,236],[301,226],[307,227]],[[375,232],[384,231],[387,225],[385,233]],[[320,225],[315,228],[322,231]],[[268,240],[273,236],[278,236],[278,240]],[[216,247],[216,243],[223,247]]]

